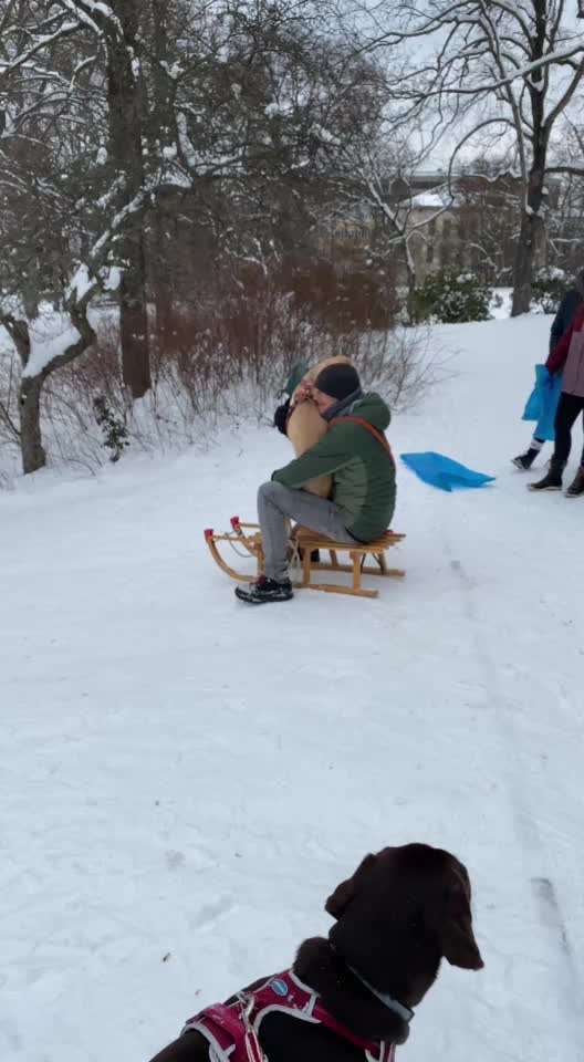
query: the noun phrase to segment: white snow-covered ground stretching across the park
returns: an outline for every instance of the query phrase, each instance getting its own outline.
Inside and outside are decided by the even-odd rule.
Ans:
[[[212,566],[202,528],[289,457],[269,429],[0,493],[2,1062],[145,1062],[413,840],[467,863],[487,966],[442,968],[398,1058],[584,1059],[584,502],[509,462],[548,327],[437,330],[456,376],[394,449],[498,479],[400,469],[378,601],[247,611]]]

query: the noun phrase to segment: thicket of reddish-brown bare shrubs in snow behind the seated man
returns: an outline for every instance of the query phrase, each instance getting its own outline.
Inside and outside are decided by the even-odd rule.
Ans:
[[[107,458],[117,462],[127,450],[205,442],[246,418],[271,423],[295,362],[346,354],[394,409],[411,406],[442,378],[440,352],[427,330],[387,329],[390,308],[384,309],[375,292],[345,274],[337,284],[319,277],[320,284],[304,285],[301,278],[288,291],[270,278],[257,289],[234,284],[215,300],[174,305],[160,327],[150,313],[153,386],[138,403],[119,368],[117,311],[93,310],[96,342],[50,377],[41,397],[50,464],[93,470]],[[44,332],[42,322],[34,323],[39,353],[55,320],[52,313]],[[19,381],[18,356],[0,327],[0,489],[19,467]]]

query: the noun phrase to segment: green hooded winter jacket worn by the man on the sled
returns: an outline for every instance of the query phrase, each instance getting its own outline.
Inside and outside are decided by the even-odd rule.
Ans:
[[[366,394],[340,414],[368,420],[384,431],[390,413],[383,398]],[[272,479],[299,489],[311,479],[332,475],[332,501],[347,516],[346,529],[359,542],[373,542],[389,527],[395,509],[395,464],[378,439],[361,424],[334,424],[326,435],[280,468]]]

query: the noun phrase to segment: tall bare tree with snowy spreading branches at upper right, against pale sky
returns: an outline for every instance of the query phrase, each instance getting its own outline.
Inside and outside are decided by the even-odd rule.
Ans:
[[[544,239],[552,134],[584,77],[584,37],[567,0],[437,0],[376,4],[371,49],[407,52],[395,82],[404,118],[434,106],[456,136],[455,173],[477,136],[512,144],[523,185],[513,268],[513,314],[530,308],[531,275]],[[427,42],[419,50],[420,42]],[[435,42],[434,53],[428,43]],[[462,132],[459,132],[459,131]]]

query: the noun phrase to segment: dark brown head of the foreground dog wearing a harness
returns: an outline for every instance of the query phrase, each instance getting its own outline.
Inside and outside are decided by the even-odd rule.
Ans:
[[[427,844],[384,848],[365,856],[328,897],[326,910],[337,919],[331,941],[364,976],[369,970],[377,980],[396,947],[406,962],[417,957],[421,965],[425,958],[434,964],[434,976],[442,957],[465,970],[480,970],[470,900],[467,870],[449,852]]]

